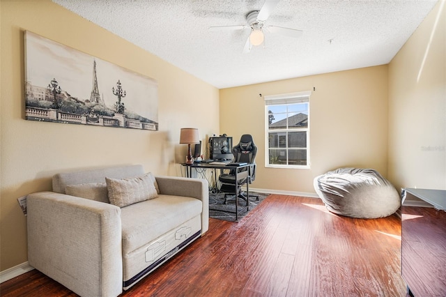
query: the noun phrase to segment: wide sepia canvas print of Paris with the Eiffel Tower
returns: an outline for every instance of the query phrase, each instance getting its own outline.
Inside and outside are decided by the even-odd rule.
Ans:
[[[158,130],[157,82],[25,31],[25,119]]]

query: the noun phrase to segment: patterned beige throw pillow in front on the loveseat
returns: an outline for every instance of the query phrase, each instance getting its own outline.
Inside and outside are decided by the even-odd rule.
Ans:
[[[158,195],[150,174],[123,179],[106,177],[105,183],[110,203],[119,207],[153,199]]]

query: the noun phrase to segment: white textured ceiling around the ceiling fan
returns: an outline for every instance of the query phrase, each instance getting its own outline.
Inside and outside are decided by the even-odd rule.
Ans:
[[[302,37],[266,32],[244,54],[249,29],[208,28],[244,25],[264,0],[53,1],[219,89],[389,63],[437,2],[282,0],[265,26]]]

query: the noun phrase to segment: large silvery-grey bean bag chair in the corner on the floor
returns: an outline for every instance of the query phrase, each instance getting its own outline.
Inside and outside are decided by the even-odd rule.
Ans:
[[[401,199],[392,183],[374,169],[339,168],[314,178],[314,190],[328,211],[351,218],[385,218]]]

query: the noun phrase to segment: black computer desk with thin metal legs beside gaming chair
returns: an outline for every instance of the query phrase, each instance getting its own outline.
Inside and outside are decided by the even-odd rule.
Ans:
[[[238,183],[243,181],[245,178],[249,181],[251,176],[251,164],[245,165],[230,165],[229,163],[220,164],[220,162],[194,162],[192,164],[183,163],[185,166],[187,177],[192,177],[192,168],[195,169],[233,169],[236,175],[237,183],[234,183],[234,193],[236,195],[236,211],[226,211],[227,213],[236,214],[236,222],[238,222]],[[243,169],[243,170],[242,170]],[[217,171],[215,171],[215,186],[217,187]],[[249,182],[246,183],[246,208],[249,211]],[[209,208],[211,211],[222,211],[221,209]]]

